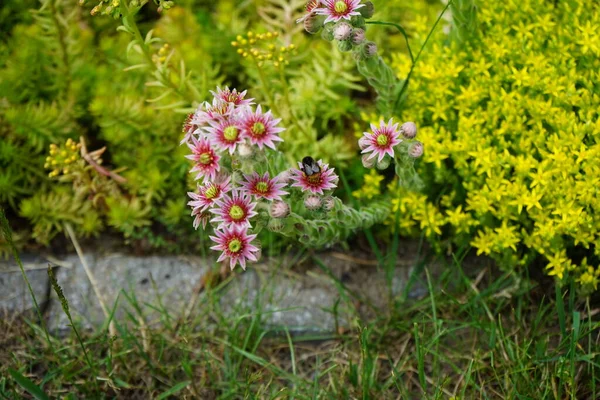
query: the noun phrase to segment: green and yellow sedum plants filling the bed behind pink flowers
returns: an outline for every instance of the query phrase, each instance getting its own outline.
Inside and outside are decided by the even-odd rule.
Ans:
[[[303,0],[178,0],[162,12],[149,3],[135,16],[146,39],[137,43],[117,30],[119,18],[74,3],[0,8],[0,203],[22,222],[23,243],[49,243],[67,219],[84,236],[108,230],[171,251],[193,247],[181,126],[217,86],[247,89],[277,111],[290,162],[310,154],[343,169],[357,202],[387,190],[390,177],[368,173],[357,157],[356,134],[381,117],[375,94],[350,54],[296,24]],[[402,24],[413,51],[446,4],[374,3],[374,19]],[[415,121],[426,145],[424,191],[394,200],[402,234],[424,235],[440,252],[474,247],[508,269],[537,264],[597,290],[599,8],[453,2],[396,116]],[[269,31],[278,46],[295,46],[288,65],[258,68],[231,46]],[[369,38],[405,79],[405,38],[381,26]],[[44,169],[50,144],[80,136],[90,149],[106,146],[105,165],[127,179],[102,209]]]

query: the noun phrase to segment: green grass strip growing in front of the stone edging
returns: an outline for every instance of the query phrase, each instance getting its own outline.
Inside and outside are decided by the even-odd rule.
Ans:
[[[74,321],[70,335],[46,338],[37,320],[3,319],[0,398],[597,398],[600,323],[589,299],[491,268],[473,276],[463,256],[441,274],[421,263],[412,280],[427,296],[400,293],[383,309],[314,256],[344,306],[369,310],[345,307],[353,325],[330,335],[267,326],[268,288],[226,312],[236,275],[204,291],[184,323],[157,296],[161,327],[146,325],[135,293],[123,291],[129,312],[114,337],[107,323],[85,332]]]

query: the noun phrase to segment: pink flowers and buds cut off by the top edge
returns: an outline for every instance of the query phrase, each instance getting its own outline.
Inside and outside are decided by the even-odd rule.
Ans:
[[[356,59],[371,58],[377,46],[366,40],[365,19],[373,16],[374,6],[362,0],[310,0],[306,14],[298,19],[304,29],[316,34],[323,29],[325,40],[338,42],[341,51],[354,50]]]

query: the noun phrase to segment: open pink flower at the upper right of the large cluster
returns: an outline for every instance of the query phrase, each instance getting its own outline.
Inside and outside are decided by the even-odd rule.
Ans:
[[[257,145],[261,150],[263,146],[275,150],[274,142],[283,142],[283,139],[277,134],[285,130],[277,127],[279,122],[281,122],[281,119],[273,118],[271,111],[263,113],[259,105],[256,112],[248,110],[244,113],[241,120],[242,134],[250,139],[250,143]]]

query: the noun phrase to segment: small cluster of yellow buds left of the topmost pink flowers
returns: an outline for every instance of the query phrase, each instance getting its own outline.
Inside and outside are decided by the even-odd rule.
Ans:
[[[278,32],[254,33],[238,35],[231,45],[243,58],[252,58],[259,67],[265,62],[272,62],[275,68],[283,68],[290,63],[289,55],[296,51],[296,46],[278,46]]]

